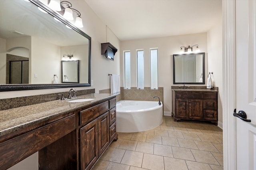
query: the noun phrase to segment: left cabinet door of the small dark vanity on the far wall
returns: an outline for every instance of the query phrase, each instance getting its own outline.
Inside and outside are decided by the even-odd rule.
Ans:
[[[176,117],[189,118],[188,99],[176,99]]]

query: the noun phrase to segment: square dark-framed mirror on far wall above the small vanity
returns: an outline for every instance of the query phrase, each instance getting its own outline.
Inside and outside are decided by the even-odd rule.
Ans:
[[[174,54],[173,84],[205,84],[205,53]]]

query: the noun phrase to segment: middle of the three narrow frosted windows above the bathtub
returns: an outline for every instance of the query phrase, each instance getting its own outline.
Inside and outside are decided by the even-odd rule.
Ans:
[[[137,52],[137,89],[144,89],[144,51]]]

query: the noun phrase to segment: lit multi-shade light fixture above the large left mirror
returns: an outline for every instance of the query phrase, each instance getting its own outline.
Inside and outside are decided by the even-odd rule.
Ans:
[[[74,23],[74,26],[78,27],[78,28],[83,28],[83,20],[81,18],[81,13],[74,9],[71,8],[72,4],[68,1],[62,1],[60,2],[60,0],[50,0],[50,2],[48,3],[48,6],[55,11],[58,11],[60,14],[62,14],[62,16],[66,19],[66,20],[74,20],[73,18],[73,12],[75,12],[75,14],[77,15],[76,17],[76,21]]]

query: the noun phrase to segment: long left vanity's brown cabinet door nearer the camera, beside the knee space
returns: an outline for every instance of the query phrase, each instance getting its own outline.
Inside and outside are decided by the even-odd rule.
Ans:
[[[90,169],[98,159],[98,119],[80,128],[81,169]]]

